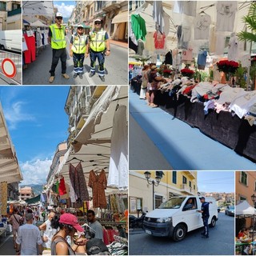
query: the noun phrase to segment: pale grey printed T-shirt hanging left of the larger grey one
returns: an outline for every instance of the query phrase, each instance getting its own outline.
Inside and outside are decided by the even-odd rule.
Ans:
[[[198,14],[194,22],[194,39],[209,39],[211,18],[208,14]]]

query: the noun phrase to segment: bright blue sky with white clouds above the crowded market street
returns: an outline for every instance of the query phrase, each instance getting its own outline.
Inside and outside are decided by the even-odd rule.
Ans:
[[[0,101],[26,184],[46,182],[58,143],[68,137],[70,86],[0,86]]]

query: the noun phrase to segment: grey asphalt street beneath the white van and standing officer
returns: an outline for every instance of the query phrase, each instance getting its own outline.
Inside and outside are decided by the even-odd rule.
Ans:
[[[218,222],[210,228],[210,238],[201,238],[202,230],[186,234],[182,242],[153,237],[143,230],[130,230],[130,255],[234,255],[234,217],[218,214]]]

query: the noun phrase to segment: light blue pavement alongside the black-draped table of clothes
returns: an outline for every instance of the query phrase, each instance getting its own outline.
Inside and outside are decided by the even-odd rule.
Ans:
[[[174,170],[255,170],[256,164],[160,108],[151,108],[130,90],[129,111]],[[132,138],[130,138],[132,139]],[[146,147],[141,145],[141,158]],[[130,148],[130,150],[133,150]],[[129,156],[129,162],[134,159]],[[148,166],[149,169],[150,166]],[[140,170],[135,168],[133,170]]]

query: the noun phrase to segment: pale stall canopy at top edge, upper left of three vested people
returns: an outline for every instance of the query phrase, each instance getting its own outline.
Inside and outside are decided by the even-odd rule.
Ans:
[[[54,5],[52,1],[23,1],[22,14],[54,16]]]

